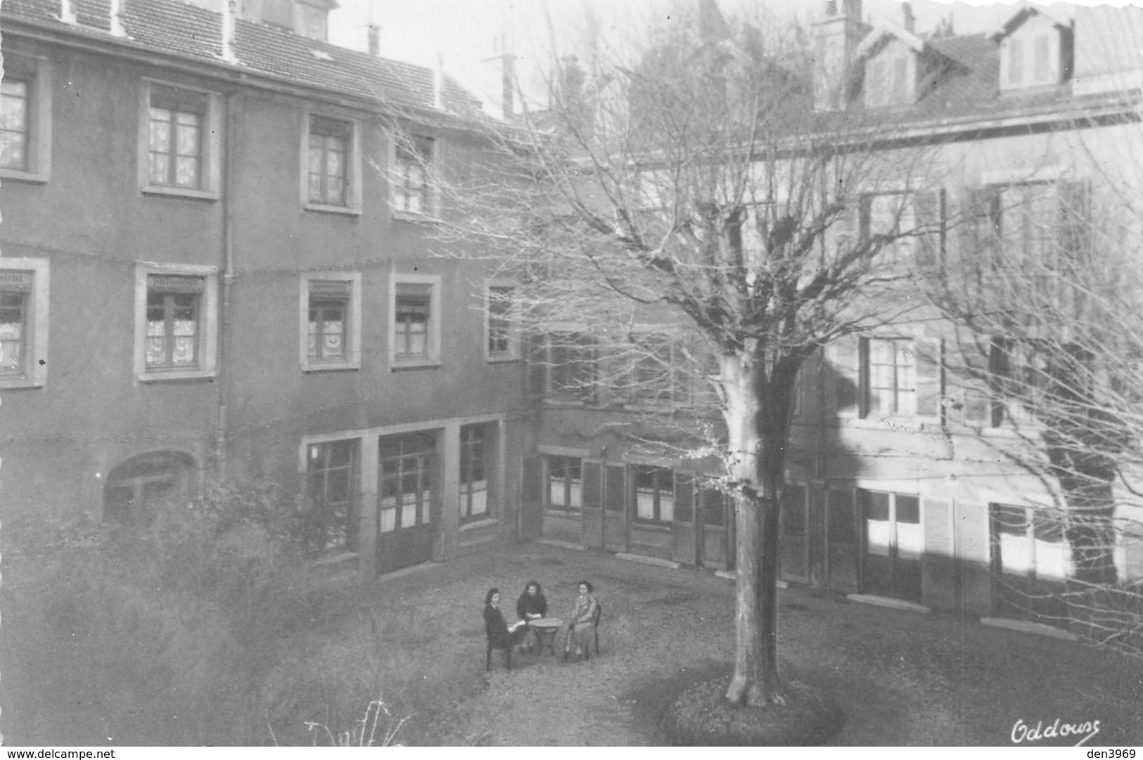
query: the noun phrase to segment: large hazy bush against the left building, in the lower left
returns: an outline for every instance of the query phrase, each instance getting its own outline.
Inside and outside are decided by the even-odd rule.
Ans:
[[[224,482],[150,506],[141,526],[5,526],[19,547],[5,558],[5,680],[39,693],[30,704],[80,705],[65,721],[79,743],[267,741],[262,682],[304,590],[294,499]],[[39,735],[58,722],[26,715],[6,734],[61,743]]]

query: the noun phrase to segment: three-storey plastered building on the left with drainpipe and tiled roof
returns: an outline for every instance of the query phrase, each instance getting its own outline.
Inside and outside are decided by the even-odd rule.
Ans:
[[[426,234],[480,104],[335,5],[3,2],[6,536],[246,475],[367,576],[515,538],[515,335]]]

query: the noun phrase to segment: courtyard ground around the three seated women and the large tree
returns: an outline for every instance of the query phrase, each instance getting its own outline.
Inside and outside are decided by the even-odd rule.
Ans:
[[[604,606],[601,655],[493,654],[485,673],[485,591],[505,607],[528,579],[567,617],[580,578]],[[367,587],[358,623],[379,622],[378,673],[411,713],[399,741],[416,744],[639,745],[662,743],[664,682],[732,661],[733,583],[698,570],[637,565],[600,552],[525,544],[416,570]],[[780,657],[791,678],[833,691],[839,745],[1008,745],[1017,721],[1044,728],[1100,721],[1088,745],[1143,743],[1143,663],[1081,645],[940,615],[780,592]],[[344,634],[344,625],[330,634]],[[334,646],[334,645],[330,645]],[[727,671],[728,672],[728,671]],[[1020,729],[1017,729],[1017,735]],[[1025,741],[1068,745],[1071,739]]]

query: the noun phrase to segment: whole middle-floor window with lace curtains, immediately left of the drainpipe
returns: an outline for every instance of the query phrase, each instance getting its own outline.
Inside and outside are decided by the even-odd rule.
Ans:
[[[139,265],[135,273],[135,375],[141,381],[211,377],[217,270]]]

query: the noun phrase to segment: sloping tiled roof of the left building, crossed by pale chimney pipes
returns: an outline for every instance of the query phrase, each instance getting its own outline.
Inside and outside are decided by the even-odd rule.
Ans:
[[[58,19],[59,0],[2,0],[0,19],[21,19],[59,31],[110,35],[111,0],[75,0],[77,24]],[[123,0],[127,41],[154,53],[222,62],[222,15],[179,0]],[[7,32],[7,30],[5,30]],[[434,72],[378,58],[256,22],[238,19],[235,67],[394,110],[432,111]],[[480,101],[445,78],[445,112],[480,117]]]

